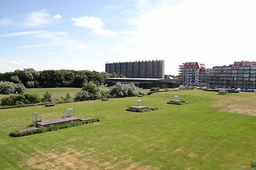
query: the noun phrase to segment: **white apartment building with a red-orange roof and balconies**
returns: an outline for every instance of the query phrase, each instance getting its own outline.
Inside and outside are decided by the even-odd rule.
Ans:
[[[205,85],[207,68],[200,62],[185,62],[179,66],[179,81],[183,85]]]

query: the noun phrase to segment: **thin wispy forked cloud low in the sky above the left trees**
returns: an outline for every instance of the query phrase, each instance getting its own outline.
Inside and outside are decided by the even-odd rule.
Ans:
[[[13,32],[10,34],[2,34],[0,37],[12,37],[12,36],[26,36],[33,39],[45,40],[45,43],[33,44],[33,45],[22,45],[17,46],[18,48],[36,48],[42,46],[61,46],[65,49],[83,49],[90,48],[90,45],[82,43],[77,39],[70,38],[67,32],[58,31],[23,31],[23,32]]]

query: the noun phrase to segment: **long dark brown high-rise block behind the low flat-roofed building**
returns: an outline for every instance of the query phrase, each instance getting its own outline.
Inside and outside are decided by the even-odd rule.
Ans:
[[[106,72],[127,78],[164,78],[164,60],[106,63]]]

